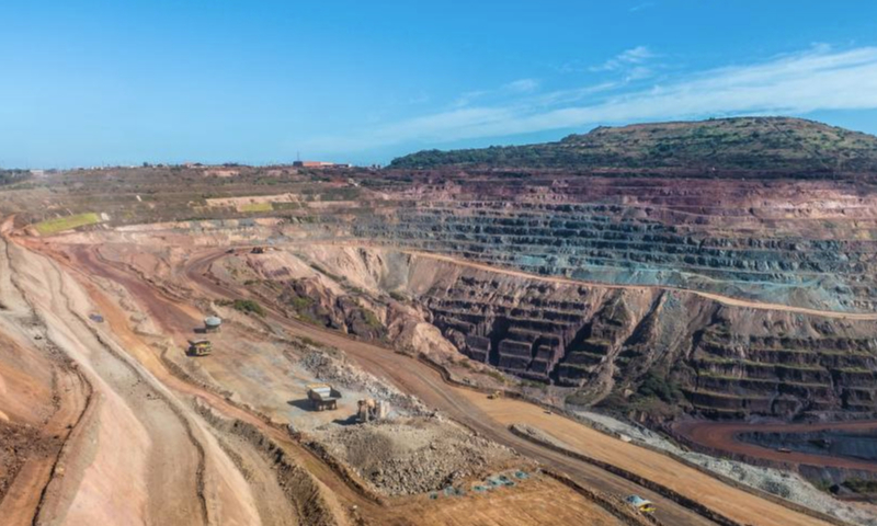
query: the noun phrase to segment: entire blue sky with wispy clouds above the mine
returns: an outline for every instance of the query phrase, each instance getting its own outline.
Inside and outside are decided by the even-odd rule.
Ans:
[[[596,125],[877,133],[872,1],[0,2],[0,167],[387,162]]]

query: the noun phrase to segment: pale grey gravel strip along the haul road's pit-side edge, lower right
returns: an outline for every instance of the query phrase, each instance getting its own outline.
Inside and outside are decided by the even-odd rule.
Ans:
[[[740,483],[759,489],[766,493],[782,496],[811,510],[833,515],[842,521],[864,526],[877,526],[877,516],[858,507],[844,504],[831,495],[823,493],[802,479],[798,473],[773,468],[750,466],[734,460],[725,460],[709,455],[686,451],[646,427],[622,422],[604,414],[590,411],[577,411],[577,415],[595,424],[594,426],[620,433],[634,442],[648,444],[690,462],[696,464],[714,473],[718,473]]]

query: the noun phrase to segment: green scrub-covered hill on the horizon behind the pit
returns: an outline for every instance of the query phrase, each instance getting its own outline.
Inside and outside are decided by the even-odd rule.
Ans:
[[[809,173],[874,171],[877,137],[785,117],[741,117],[691,123],[599,127],[558,142],[425,150],[395,159],[390,168],[443,165],[567,170],[693,169]],[[713,174],[713,175],[710,175]],[[725,174],[727,176],[727,174]],[[692,176],[692,174],[686,174]]]

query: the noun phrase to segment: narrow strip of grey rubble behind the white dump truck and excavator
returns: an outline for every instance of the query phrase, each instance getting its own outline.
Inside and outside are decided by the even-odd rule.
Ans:
[[[343,388],[367,392],[372,398],[387,400],[395,411],[410,415],[425,415],[430,411],[417,397],[406,395],[395,387],[363,371],[348,362],[344,355],[312,350],[301,358],[300,365],[322,381]]]

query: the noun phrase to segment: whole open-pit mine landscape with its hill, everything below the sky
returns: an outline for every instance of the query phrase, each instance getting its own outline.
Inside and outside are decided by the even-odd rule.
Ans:
[[[877,525],[877,138],[0,179],[0,523]]]

